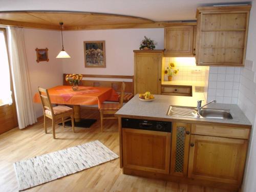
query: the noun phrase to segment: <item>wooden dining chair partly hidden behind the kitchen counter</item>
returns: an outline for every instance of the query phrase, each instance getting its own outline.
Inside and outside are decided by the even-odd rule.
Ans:
[[[119,103],[102,103],[99,108],[100,112],[100,128],[103,132],[103,119],[118,119],[117,117],[103,117],[105,114],[115,114],[123,106],[123,96],[125,90],[125,83],[122,82],[121,96]]]

